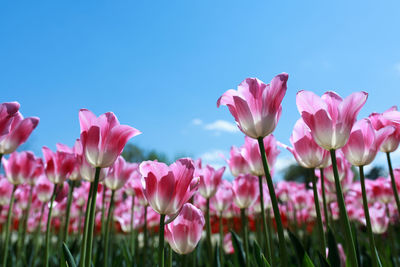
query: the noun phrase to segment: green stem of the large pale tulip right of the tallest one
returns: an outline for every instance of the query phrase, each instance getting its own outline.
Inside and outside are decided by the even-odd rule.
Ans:
[[[356,249],[354,246],[353,235],[351,233],[350,222],[347,216],[346,205],[344,203],[344,197],[342,192],[342,185],[339,180],[339,172],[337,169],[336,163],[336,151],[335,149],[330,150],[331,160],[332,160],[332,169],[333,176],[335,177],[335,186],[336,186],[336,197],[339,206],[339,214],[342,222],[342,227],[344,228],[345,240],[347,244],[347,257],[349,258],[349,264],[351,267],[359,266],[357,262]]]

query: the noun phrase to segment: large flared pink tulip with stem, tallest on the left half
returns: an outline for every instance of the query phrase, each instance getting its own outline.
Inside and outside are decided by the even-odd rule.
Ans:
[[[91,183],[86,211],[84,242],[81,263],[88,267],[91,265],[93,248],[93,231],[95,220],[95,208],[97,199],[97,187],[100,179],[101,168],[110,167],[122,153],[126,143],[132,137],[141,132],[128,125],[121,125],[112,112],[107,112],[96,117],[91,111],[81,109],[79,111],[79,124],[81,127],[81,142],[83,155],[87,162],[96,168],[94,181]]]

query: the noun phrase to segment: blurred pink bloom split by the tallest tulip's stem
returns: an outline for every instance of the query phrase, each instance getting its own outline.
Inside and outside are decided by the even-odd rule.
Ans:
[[[264,137],[263,140],[268,166],[270,167],[270,172],[272,175],[273,167],[280,151],[278,150],[277,142],[273,135]],[[251,174],[256,176],[264,175],[264,167],[257,140],[245,136],[244,146],[242,148],[242,155],[249,164]]]

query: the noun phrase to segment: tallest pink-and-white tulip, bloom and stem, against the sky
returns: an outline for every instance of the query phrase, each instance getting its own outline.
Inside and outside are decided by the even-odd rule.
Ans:
[[[282,99],[287,89],[289,75],[281,73],[275,76],[270,84],[265,84],[257,78],[247,78],[238,90],[226,91],[217,101],[217,106],[226,105],[239,129],[247,136],[257,139],[261,152],[264,173],[267,179],[272,208],[278,228],[279,251],[282,266],[287,266],[287,252],[282,219],[275,195],[275,189],[268,162],[265,155],[263,138],[271,134],[282,113]],[[262,188],[262,185],[259,185]],[[260,191],[261,192],[261,191]],[[262,200],[263,201],[263,200]]]

